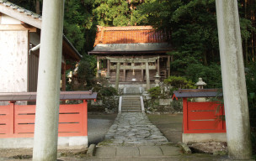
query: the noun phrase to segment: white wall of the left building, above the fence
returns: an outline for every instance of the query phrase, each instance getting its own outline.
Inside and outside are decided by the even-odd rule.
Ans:
[[[28,31],[0,31],[0,92],[27,91]]]

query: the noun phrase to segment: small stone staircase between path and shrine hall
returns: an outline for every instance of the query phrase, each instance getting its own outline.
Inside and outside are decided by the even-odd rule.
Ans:
[[[140,96],[122,96],[121,112],[141,112]]]

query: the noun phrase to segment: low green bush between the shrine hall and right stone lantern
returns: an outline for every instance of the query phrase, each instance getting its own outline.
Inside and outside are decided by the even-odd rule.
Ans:
[[[173,87],[173,90],[177,89],[195,89],[195,83],[187,80],[182,76],[169,76],[168,79],[163,81],[165,84]]]

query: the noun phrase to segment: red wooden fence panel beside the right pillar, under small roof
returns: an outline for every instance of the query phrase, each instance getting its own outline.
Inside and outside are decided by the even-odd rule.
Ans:
[[[226,132],[226,123],[217,119],[224,115],[223,106],[216,113],[215,102],[190,102],[183,98],[184,133]]]

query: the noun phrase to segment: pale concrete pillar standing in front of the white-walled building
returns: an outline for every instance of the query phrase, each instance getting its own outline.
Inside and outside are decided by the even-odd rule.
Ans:
[[[35,113],[34,161],[56,161],[64,0],[45,0]]]

